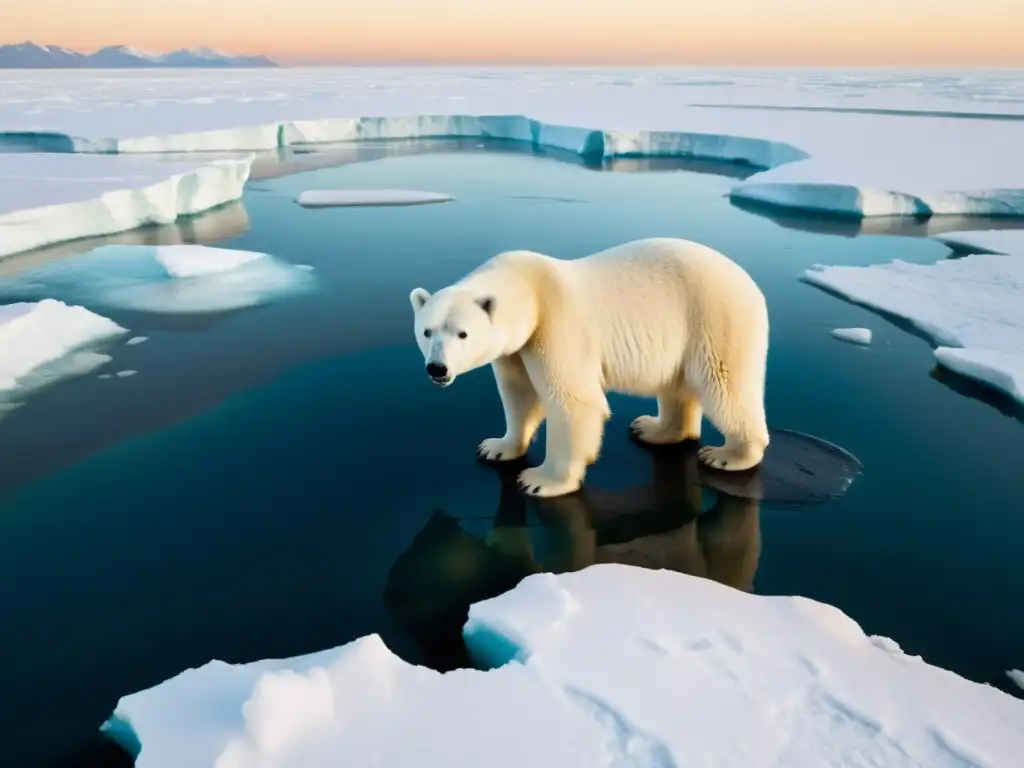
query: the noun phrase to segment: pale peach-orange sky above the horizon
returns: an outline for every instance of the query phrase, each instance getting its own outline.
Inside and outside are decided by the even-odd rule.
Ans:
[[[1024,0],[0,0],[0,42],[282,63],[1024,65]],[[970,9],[970,10],[969,10]]]

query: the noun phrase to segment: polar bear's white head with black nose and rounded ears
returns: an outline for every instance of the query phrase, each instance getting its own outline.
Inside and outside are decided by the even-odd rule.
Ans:
[[[459,374],[493,362],[505,347],[494,324],[495,299],[460,287],[430,295],[417,288],[409,295],[415,313],[416,341],[427,375],[446,387]]]

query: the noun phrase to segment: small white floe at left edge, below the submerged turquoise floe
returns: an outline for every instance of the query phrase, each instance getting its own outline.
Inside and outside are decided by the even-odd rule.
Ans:
[[[123,333],[125,329],[106,317],[53,299],[0,306],[0,390],[14,389],[41,366]],[[97,359],[80,357],[71,369]],[[52,380],[51,375],[46,383]]]

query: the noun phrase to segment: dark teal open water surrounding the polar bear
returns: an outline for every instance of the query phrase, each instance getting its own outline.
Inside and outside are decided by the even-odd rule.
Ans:
[[[797,279],[814,262],[929,263],[946,249],[780,227],[730,206],[728,185],[714,173],[602,173],[486,152],[261,179],[244,201],[251,228],[221,245],[272,254],[317,290],[216,315],[118,303],[125,285],[145,297],[145,286],[174,282],[153,250],[39,267],[47,290],[109,307],[150,341],[110,350],[106,372],[137,375],[76,380],[0,427],[0,655],[19,659],[2,684],[22,702],[0,731],[14,764],[74,751],[120,696],[210,658],[291,656],[377,632],[407,659],[464,665],[469,602],[531,569],[593,562],[807,595],[975,680],[1021,669],[1021,424],[928,377],[921,339]],[[370,186],[456,200],[294,202],[303,189]],[[651,457],[627,438],[653,403],[627,397],[612,398],[591,493],[570,504],[526,504],[476,462],[474,446],[503,427],[494,382],[479,372],[430,386],[409,290],[436,289],[508,248],[573,257],[651,236],[707,243],[762,286],[771,426],[862,461],[841,500],[794,511],[723,506],[735,497],[718,495],[711,515],[623,514],[609,499],[679,493],[653,482]],[[96,254],[103,270],[86,266]],[[0,279],[0,295],[40,290],[40,272],[34,284],[28,274]],[[829,336],[861,327],[868,348]],[[978,455],[986,461],[965,461]]]

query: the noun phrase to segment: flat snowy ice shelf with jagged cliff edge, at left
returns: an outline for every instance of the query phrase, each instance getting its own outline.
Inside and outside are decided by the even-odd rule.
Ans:
[[[166,224],[242,197],[252,160],[203,165],[0,152],[0,258]]]

